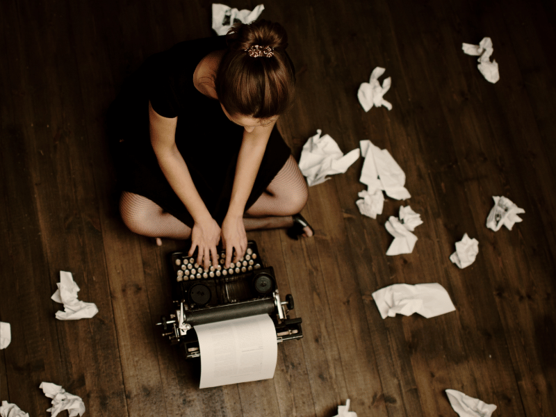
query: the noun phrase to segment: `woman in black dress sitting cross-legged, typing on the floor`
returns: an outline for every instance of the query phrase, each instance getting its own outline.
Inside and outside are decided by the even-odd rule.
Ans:
[[[204,268],[218,265],[220,240],[226,266],[242,257],[245,230],[313,235],[299,214],[306,182],[275,127],[294,93],[286,47],[277,23],[236,24],[148,58],[126,81],[111,123],[131,231],[191,238]]]

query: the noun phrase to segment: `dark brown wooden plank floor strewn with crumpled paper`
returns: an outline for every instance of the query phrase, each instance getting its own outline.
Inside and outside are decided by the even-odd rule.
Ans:
[[[254,1],[231,6],[253,8]],[[299,157],[322,129],[347,152],[389,149],[412,197],[377,220],[355,200],[362,161],[310,188],[312,239],[250,233],[295,297],[304,338],[279,345],[274,379],[198,389],[155,327],[170,308],[167,254],[186,242],[128,231],[117,214],[104,115],[142,60],[211,36],[202,0],[3,0],[0,6],[0,400],[46,416],[54,382],[85,416],[455,416],[445,389],[498,405],[494,416],[556,416],[556,6],[549,0],[280,0],[298,72],[279,129]],[[500,81],[461,43],[490,36]],[[365,113],[357,89],[386,68],[393,110]],[[486,229],[493,195],[525,209],[512,231]],[[389,257],[400,204],[424,224],[412,254]],[[464,233],[470,267],[449,261]],[[54,318],[60,270],[95,302],[90,320]],[[438,282],[457,308],[382,320],[371,293]],[[48,414],[49,415],[49,414]]]

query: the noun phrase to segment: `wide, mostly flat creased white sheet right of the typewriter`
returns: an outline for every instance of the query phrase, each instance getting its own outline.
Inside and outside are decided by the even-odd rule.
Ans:
[[[411,316],[419,313],[425,318],[440,316],[455,311],[450,295],[436,282],[430,284],[393,284],[373,293],[382,318],[396,314]]]

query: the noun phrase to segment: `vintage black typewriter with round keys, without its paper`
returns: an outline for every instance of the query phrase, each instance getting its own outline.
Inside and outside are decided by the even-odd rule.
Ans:
[[[268,314],[275,324],[277,343],[303,337],[301,318],[289,318],[293,297],[281,301],[274,270],[261,259],[254,240],[237,263],[224,268],[225,250],[218,252],[218,267],[204,270],[195,256],[170,254],[172,313],[156,325],[186,359],[200,357],[195,326],[234,318]]]

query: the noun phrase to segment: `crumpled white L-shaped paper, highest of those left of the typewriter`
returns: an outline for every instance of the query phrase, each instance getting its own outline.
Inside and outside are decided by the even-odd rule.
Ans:
[[[60,271],[60,282],[56,285],[58,290],[52,295],[51,299],[64,304],[65,310],[56,312],[58,320],[91,318],[99,312],[95,303],[77,300],[79,286],[74,282],[71,272]]]

